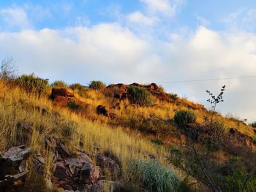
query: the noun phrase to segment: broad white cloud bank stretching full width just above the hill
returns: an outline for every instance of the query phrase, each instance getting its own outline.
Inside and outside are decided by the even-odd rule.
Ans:
[[[201,26],[171,42],[141,39],[118,23],[63,30],[0,33],[0,58],[11,55],[20,72],[35,72],[50,80],[86,84],[168,82],[256,74],[256,35],[220,33]],[[218,110],[255,120],[255,79],[163,84],[206,104],[206,89],[217,93],[227,85]],[[169,88],[170,87],[170,88]]]

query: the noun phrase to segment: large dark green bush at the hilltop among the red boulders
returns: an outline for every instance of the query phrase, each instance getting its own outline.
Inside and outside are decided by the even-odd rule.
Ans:
[[[153,96],[145,88],[129,86],[127,89],[128,99],[131,104],[151,105],[154,103]]]

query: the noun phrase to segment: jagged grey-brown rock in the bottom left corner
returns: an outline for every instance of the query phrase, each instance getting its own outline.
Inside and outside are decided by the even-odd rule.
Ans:
[[[0,191],[9,186],[23,185],[27,170],[27,158],[31,150],[25,145],[12,147],[0,158]]]

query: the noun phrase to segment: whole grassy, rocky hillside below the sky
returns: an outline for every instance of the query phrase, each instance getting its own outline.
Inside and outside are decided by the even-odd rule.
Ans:
[[[1,191],[255,191],[241,120],[155,83],[46,81],[0,82]]]

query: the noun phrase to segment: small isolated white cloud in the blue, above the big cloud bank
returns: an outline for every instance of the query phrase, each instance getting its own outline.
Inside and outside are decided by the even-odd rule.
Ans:
[[[142,12],[132,12],[127,16],[128,20],[132,23],[143,24],[145,26],[154,26],[155,23],[159,21],[155,17],[147,17]]]

